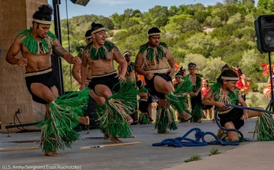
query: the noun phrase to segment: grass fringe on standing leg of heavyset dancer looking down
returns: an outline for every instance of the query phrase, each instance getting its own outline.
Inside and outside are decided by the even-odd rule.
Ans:
[[[157,128],[158,131],[166,131],[167,128],[170,130],[177,129],[171,109],[158,107],[155,128]]]

